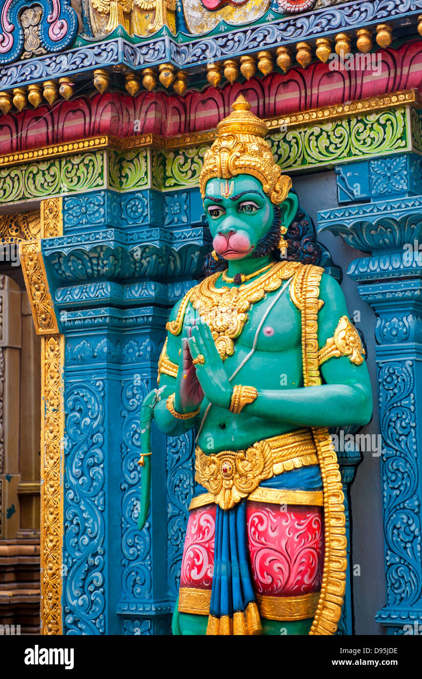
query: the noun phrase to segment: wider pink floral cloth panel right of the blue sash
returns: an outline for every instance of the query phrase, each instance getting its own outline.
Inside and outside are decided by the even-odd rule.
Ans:
[[[248,547],[254,590],[271,596],[318,591],[324,566],[322,507],[248,502]]]

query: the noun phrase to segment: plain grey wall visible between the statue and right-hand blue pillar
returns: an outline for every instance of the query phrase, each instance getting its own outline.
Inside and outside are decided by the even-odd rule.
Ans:
[[[334,171],[319,172],[302,177],[292,177],[293,187],[299,201],[315,227],[319,210],[338,206],[337,185]],[[360,311],[360,323],[368,348],[366,365],[372,382],[374,414],[362,434],[379,435],[377,404],[377,368],[375,364],[375,314],[358,295],[356,283],[347,276],[349,263],[363,253],[349,247],[340,236],[324,232],[318,236],[330,251],[332,260],[343,270],[341,287],[347,301],[349,315]],[[352,561],[360,566],[360,576],[353,576],[353,606],[356,634],[384,634],[385,630],[375,622],[375,613],[385,604],[383,513],[381,502],[381,458],[372,452],[363,453],[364,460],[358,466],[356,479],[351,486]],[[356,569],[358,570],[358,569]]]

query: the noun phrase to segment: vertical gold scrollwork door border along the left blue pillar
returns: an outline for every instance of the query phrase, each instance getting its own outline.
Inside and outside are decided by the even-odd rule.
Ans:
[[[40,238],[62,236],[62,199],[41,202],[36,240],[22,240],[22,273],[41,335],[41,634],[62,634],[64,335],[58,332]],[[26,234],[25,234],[26,235]],[[32,235],[32,234],[30,234]]]

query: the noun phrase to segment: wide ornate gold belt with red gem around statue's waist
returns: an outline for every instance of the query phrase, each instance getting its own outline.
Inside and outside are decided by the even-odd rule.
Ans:
[[[255,488],[284,471],[318,464],[309,429],[257,441],[246,450],[222,450],[206,455],[195,449],[195,480],[212,494],[222,509],[231,509]]]

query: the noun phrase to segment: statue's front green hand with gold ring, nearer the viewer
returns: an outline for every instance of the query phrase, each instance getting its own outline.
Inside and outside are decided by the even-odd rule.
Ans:
[[[197,378],[206,399],[221,408],[229,408],[232,388],[210,328],[204,321],[191,326],[188,342],[195,361]],[[204,363],[197,363],[198,357],[202,361],[201,356],[205,359]]]

